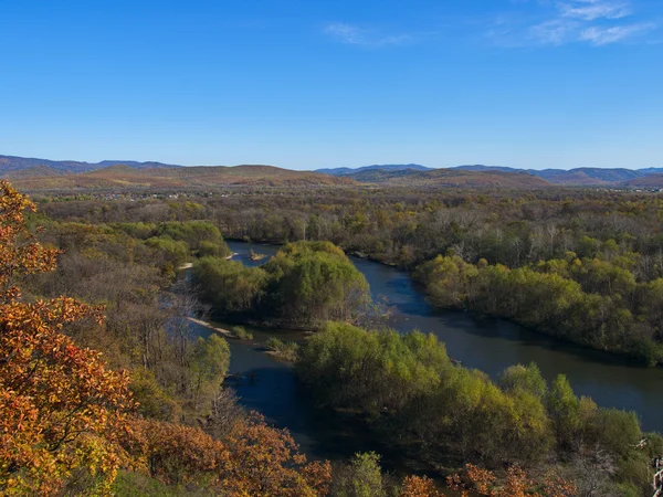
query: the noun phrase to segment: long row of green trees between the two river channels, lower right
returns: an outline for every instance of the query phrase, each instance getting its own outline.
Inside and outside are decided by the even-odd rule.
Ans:
[[[431,465],[451,457],[534,467],[598,446],[622,468],[612,474],[618,482],[631,478],[627,468],[640,483],[649,474],[633,413],[578,399],[564,376],[548,387],[534,364],[508,368],[495,384],[452,364],[434,336],[335,322],[306,341],[296,368],[319,404],[356,415]]]

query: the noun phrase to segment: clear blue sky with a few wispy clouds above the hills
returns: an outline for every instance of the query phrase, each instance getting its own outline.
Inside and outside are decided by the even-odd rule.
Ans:
[[[0,0],[0,155],[663,167],[663,1]]]

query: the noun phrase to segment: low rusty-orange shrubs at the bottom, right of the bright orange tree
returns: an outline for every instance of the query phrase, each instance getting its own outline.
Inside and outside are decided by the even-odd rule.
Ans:
[[[307,463],[287,432],[254,416],[218,441],[199,429],[131,420],[123,445],[137,469],[169,484],[206,480],[233,497],[317,497],[327,494],[329,463]]]

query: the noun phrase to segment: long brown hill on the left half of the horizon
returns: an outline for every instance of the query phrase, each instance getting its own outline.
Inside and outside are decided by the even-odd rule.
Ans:
[[[75,175],[14,176],[11,181],[18,189],[24,191],[357,184],[356,181],[349,178],[336,178],[316,172],[291,171],[273,166],[200,166],[136,169],[130,166],[119,165]]]

